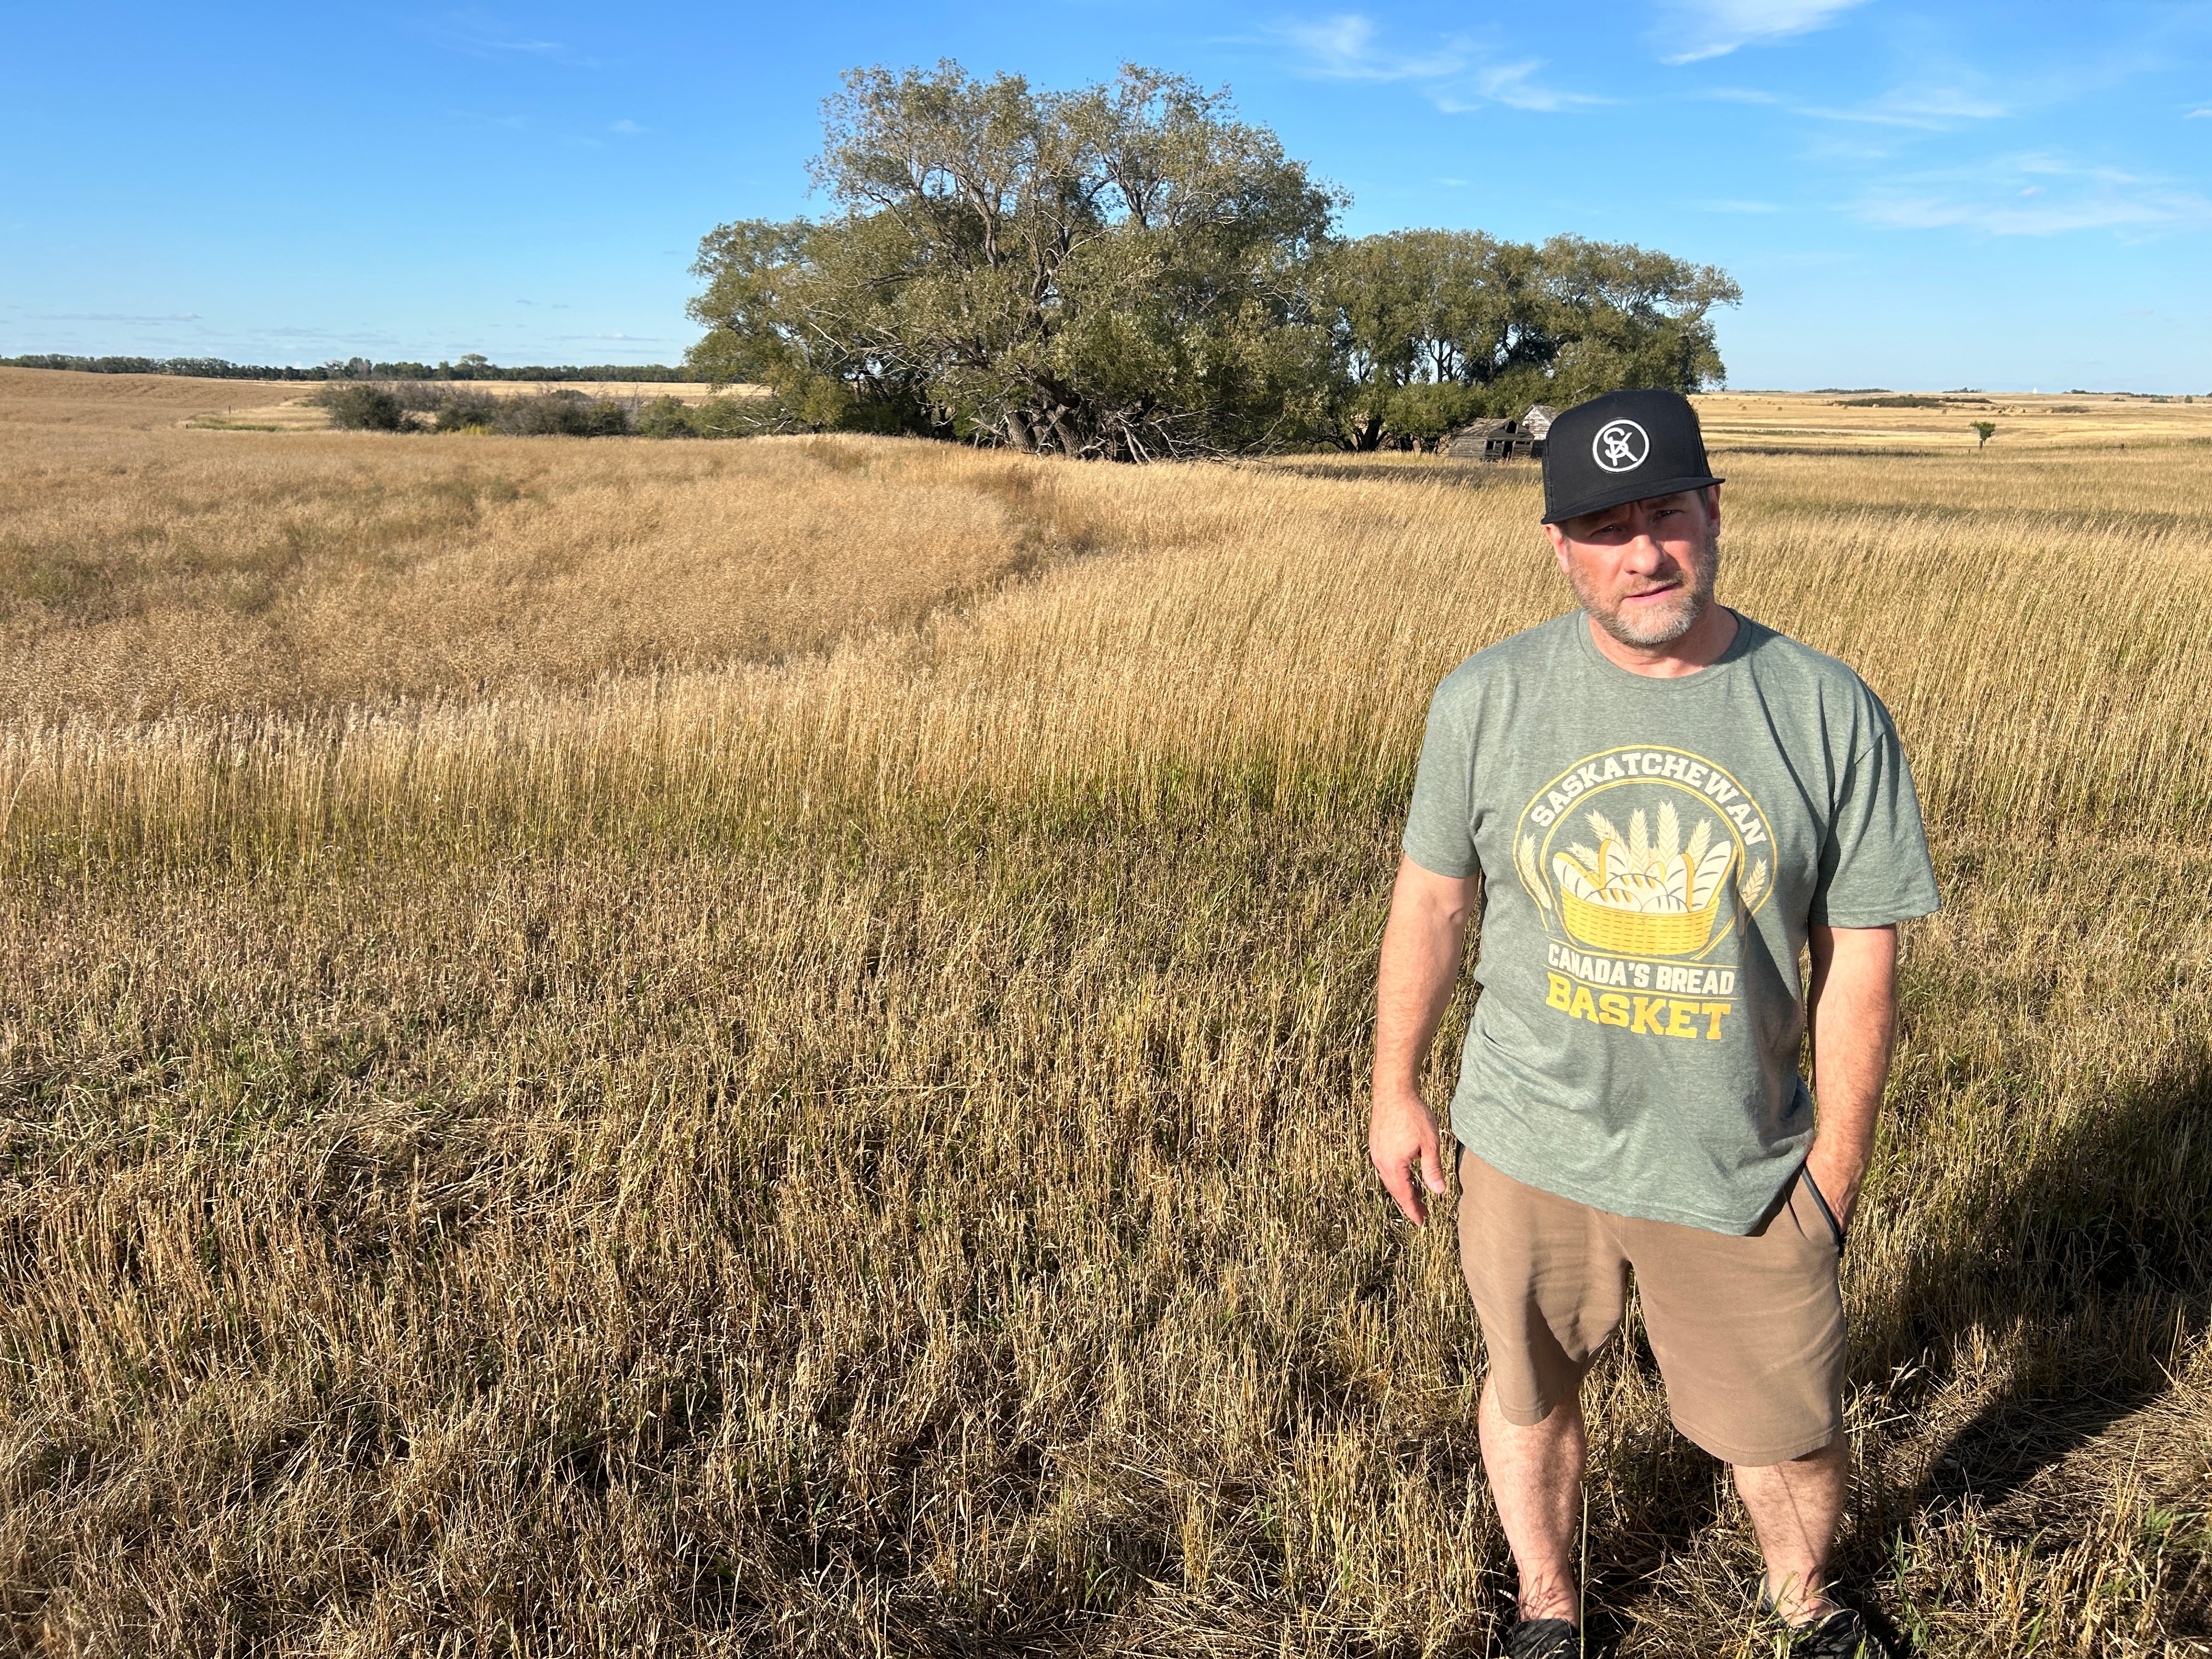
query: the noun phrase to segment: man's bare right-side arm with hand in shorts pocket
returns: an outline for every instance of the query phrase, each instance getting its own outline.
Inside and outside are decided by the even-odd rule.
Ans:
[[[1820,1124],[1805,1166],[1847,1223],[1874,1157],[1889,1051],[1898,1035],[1898,929],[1814,927],[1812,1088]]]

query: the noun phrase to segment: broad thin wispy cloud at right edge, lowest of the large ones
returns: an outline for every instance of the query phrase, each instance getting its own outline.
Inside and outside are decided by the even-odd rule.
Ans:
[[[2152,237],[2212,228],[2212,199],[2197,190],[2042,153],[1896,179],[1869,190],[1854,212],[1891,230],[1975,230],[1984,237],[2073,230]]]

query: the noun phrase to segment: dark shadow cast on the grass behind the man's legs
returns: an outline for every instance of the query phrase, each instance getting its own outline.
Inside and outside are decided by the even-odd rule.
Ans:
[[[1865,1436],[1856,1515],[1838,1582],[1893,1652],[1911,1652],[1874,1590],[1924,1531],[1975,1513],[1984,1537],[2070,1544],[2108,1502],[2106,1478],[2059,1467],[2168,1394],[2170,1371],[2212,1323],[2212,1044],[2075,1117],[1975,1192],[1931,1201],[1931,1239],[1902,1292],[1851,1334],[1856,1380],[1918,1367],[1891,1405],[1938,1409],[1940,1376],[1986,1334],[2017,1363],[2004,1389],[1933,1433]],[[1874,1223],[1874,1217],[1867,1219]],[[1847,1267],[1849,1272],[1849,1267]],[[1641,1323],[1628,1363],[1655,1376]],[[1601,1471],[1590,1537],[1590,1652],[1641,1650],[1639,1628],[1672,1597],[1670,1568],[1721,1520],[1725,1471],[1666,1420],[1637,1427]],[[2212,1595],[2190,1582],[2170,1635],[2212,1630]],[[2212,1588],[2212,1586],[2208,1586]],[[1750,1613],[1750,1582],[1743,1584]]]

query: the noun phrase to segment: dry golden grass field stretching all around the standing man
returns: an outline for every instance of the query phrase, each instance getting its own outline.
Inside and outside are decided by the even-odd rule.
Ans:
[[[13,1646],[1495,1644],[1365,1051],[1533,469],[204,403],[0,378]],[[1922,1655],[2212,1648],[2208,438],[1723,462],[1947,891],[1845,1267]],[[1765,1652],[1639,1340],[1588,1405],[1593,1635]]]

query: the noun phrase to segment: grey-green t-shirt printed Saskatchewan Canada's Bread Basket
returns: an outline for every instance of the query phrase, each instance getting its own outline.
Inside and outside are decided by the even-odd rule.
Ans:
[[[1677,679],[1608,661],[1582,611],[1469,657],[1429,703],[1405,849],[1486,876],[1460,1144],[1712,1232],[1756,1228],[1812,1144],[1807,929],[1938,905],[1889,710],[1750,617]]]

